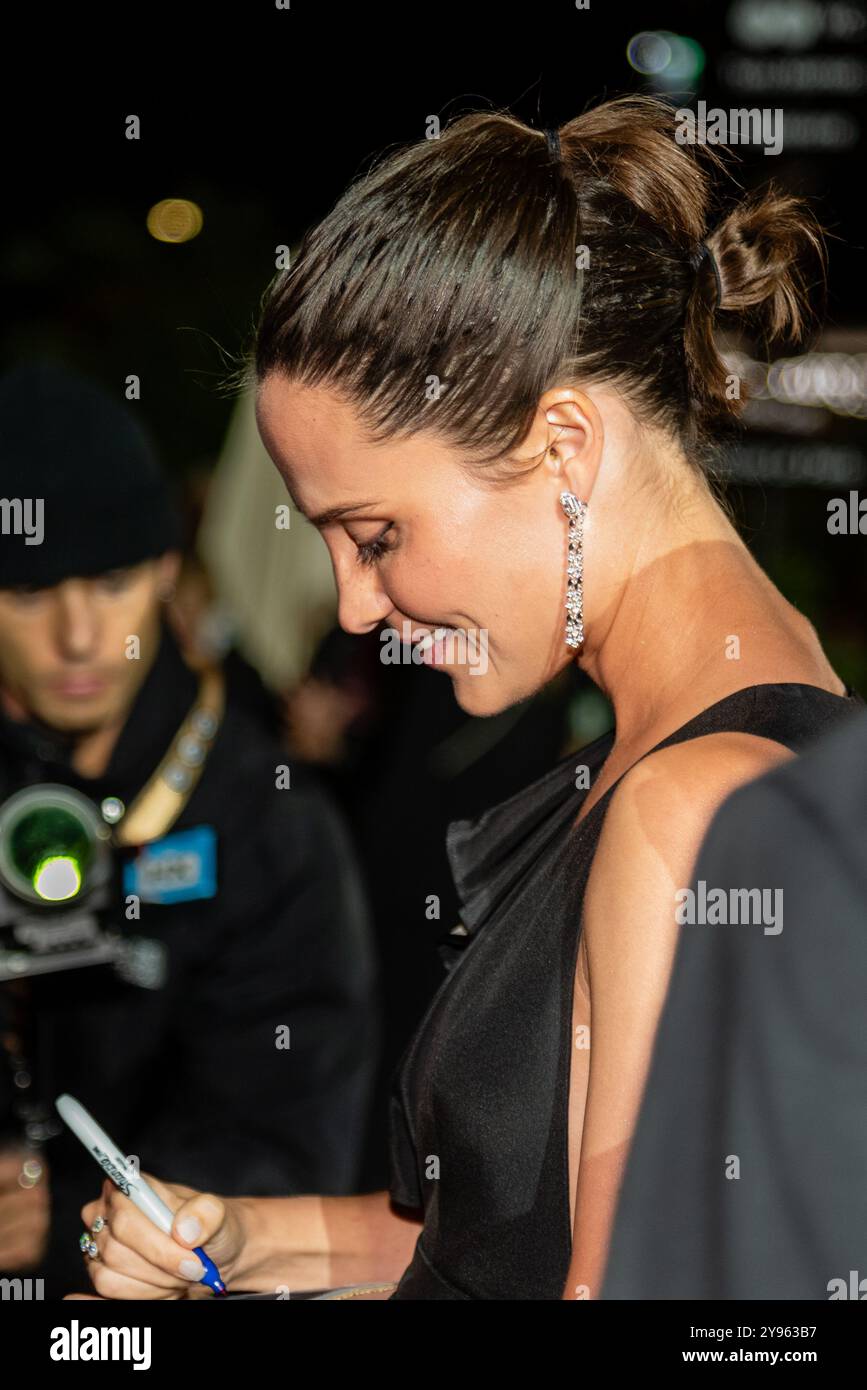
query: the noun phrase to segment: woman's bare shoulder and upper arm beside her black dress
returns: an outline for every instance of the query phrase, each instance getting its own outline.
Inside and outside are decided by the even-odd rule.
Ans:
[[[770,739],[710,734],[647,753],[611,792],[582,903],[591,1048],[567,1289],[586,1287],[597,1297],[685,930],[679,891],[692,883],[699,845],[720,803],[791,756]]]

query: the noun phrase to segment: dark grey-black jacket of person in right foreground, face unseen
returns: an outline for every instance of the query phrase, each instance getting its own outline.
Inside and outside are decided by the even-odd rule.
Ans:
[[[864,1298],[866,767],[861,709],[709,828],[693,883],[779,890],[782,930],[682,929],[604,1300]]]

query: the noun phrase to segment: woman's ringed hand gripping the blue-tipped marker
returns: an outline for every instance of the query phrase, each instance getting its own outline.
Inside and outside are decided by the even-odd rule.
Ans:
[[[179,1183],[161,1183],[142,1175],[175,1213],[171,1236],[144,1216],[110,1179],[100,1197],[82,1207],[90,1229],[97,1216],[106,1225],[92,1238],[99,1255],[85,1255],[88,1273],[101,1298],[199,1298],[210,1297],[200,1277],[201,1264],[192,1254],[204,1245],[226,1284],[245,1244],[239,1198],[197,1193]],[[89,1298],[92,1294],[67,1294]]]

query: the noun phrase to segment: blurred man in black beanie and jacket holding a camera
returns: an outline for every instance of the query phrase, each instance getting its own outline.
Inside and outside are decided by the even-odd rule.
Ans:
[[[89,1289],[100,1182],[64,1091],[175,1182],[357,1190],[379,1042],[357,865],[315,773],[181,653],[176,546],[128,404],[53,363],[0,378],[0,1273],[49,1298]],[[47,787],[101,877],[26,867]]]

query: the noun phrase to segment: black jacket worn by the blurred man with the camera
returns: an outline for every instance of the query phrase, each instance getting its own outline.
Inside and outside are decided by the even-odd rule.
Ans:
[[[64,739],[0,720],[0,802],[57,781],[126,805],[158,763],[197,682],[165,630],[104,776],[78,777]],[[310,767],[288,764],[263,712],[229,681],[215,744],[171,833],[217,831],[217,895],[124,913],[118,862],[104,919],[157,942],[165,979],[111,965],[33,976],[28,1095],[75,1095],[126,1154],[170,1182],[226,1195],[356,1190],[381,1042],[378,970],[343,819]],[[129,858],[118,855],[118,860]],[[11,987],[0,984],[8,1024]],[[289,1047],[276,1030],[289,1029]],[[0,1029],[0,1034],[4,1030]],[[285,1034],[283,1034],[285,1037]],[[0,1133],[22,1093],[0,1048]],[[26,1099],[26,1097],[25,1097]],[[46,1297],[89,1287],[79,1209],[101,1175],[63,1130],[46,1145],[53,1200]]]

